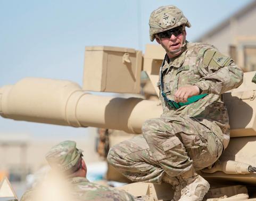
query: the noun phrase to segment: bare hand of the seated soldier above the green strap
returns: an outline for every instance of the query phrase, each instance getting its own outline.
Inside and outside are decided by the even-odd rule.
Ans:
[[[183,87],[178,88],[174,94],[174,100],[177,103],[185,103],[189,97],[199,95],[199,93],[199,87],[196,85],[184,85]]]

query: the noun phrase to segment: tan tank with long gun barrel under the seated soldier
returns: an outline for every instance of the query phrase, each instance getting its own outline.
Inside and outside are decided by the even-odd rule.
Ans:
[[[0,88],[0,115],[18,121],[139,134],[146,119],[158,118],[162,113],[158,100],[138,97],[141,73],[146,72],[148,82],[153,86],[150,88],[159,95],[156,82],[164,54],[158,45],[147,45],[144,55],[132,48],[86,47],[82,86],[67,80],[24,78],[15,85]],[[242,85],[223,95],[229,113],[231,139],[219,161],[201,172],[211,183],[205,196],[209,200],[224,196],[229,197],[226,200],[256,197],[256,85],[251,82],[255,73],[244,73]],[[89,91],[136,95],[120,98]],[[138,182],[120,188],[148,200],[172,198],[167,183]]]

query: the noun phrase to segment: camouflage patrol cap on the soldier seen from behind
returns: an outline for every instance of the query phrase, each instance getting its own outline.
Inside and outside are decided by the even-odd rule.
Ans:
[[[82,150],[77,149],[75,141],[63,141],[53,146],[45,158],[49,165],[60,171],[72,170],[82,156]]]

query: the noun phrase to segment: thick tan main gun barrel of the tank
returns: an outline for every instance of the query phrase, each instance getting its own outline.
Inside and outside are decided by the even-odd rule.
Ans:
[[[161,113],[158,102],[92,95],[66,80],[25,78],[0,88],[0,114],[14,120],[141,133]]]

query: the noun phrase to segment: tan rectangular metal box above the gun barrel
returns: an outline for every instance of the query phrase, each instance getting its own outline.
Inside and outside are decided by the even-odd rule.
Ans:
[[[113,93],[139,93],[142,52],[131,48],[85,48],[83,89]]]

